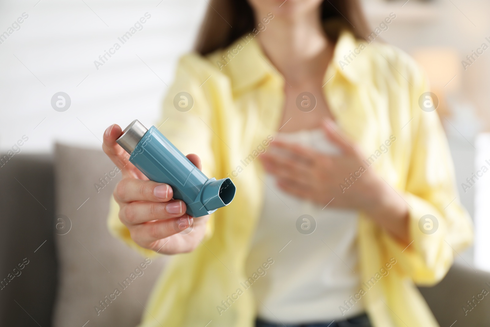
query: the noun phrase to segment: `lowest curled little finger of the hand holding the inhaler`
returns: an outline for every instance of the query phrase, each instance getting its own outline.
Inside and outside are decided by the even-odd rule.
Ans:
[[[151,221],[131,226],[131,238],[137,244],[151,244],[157,240],[167,238],[188,228],[193,223],[189,215],[165,220]]]

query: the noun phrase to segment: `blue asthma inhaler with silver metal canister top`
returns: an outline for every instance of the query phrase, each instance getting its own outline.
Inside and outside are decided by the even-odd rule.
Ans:
[[[230,178],[206,177],[155,126],[147,129],[135,120],[116,142],[145,176],[172,186],[173,198],[184,201],[186,213],[192,217],[213,213],[235,197],[236,187]]]

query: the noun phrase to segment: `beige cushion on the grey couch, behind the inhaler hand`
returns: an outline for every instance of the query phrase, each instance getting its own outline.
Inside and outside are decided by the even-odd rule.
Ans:
[[[81,327],[89,320],[87,327],[136,326],[166,257],[142,269],[145,258],[109,234],[109,199],[121,173],[111,177],[115,165],[101,150],[57,144],[54,161],[60,281],[53,326]],[[123,289],[126,277],[131,282]]]

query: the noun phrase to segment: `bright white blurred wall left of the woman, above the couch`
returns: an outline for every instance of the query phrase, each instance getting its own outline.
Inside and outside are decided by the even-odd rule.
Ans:
[[[191,49],[206,2],[38,1],[0,1],[0,33],[29,15],[0,44],[0,151],[23,135],[24,152],[50,151],[55,141],[99,148],[96,136],[113,123],[153,125],[164,83],[171,84],[175,60]],[[146,12],[143,29],[97,70],[94,60]],[[50,104],[60,91],[72,100],[65,112]]]

